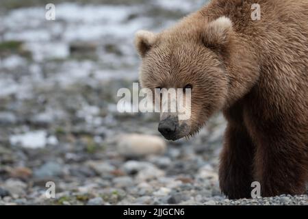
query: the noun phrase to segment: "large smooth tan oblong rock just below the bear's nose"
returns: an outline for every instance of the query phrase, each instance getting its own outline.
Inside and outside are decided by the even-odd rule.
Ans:
[[[120,136],[117,143],[118,153],[124,157],[143,157],[166,151],[166,142],[158,136],[127,134]]]

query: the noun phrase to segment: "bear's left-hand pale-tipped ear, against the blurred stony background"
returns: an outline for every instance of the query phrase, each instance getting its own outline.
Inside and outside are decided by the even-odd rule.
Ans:
[[[135,46],[141,57],[144,57],[144,55],[146,55],[146,53],[151,49],[155,40],[156,34],[150,31],[140,30],[136,33]]]

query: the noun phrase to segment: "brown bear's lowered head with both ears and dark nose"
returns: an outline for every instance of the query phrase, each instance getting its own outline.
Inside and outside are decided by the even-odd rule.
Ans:
[[[155,88],[191,89],[189,119],[179,120],[177,113],[161,113],[158,129],[168,140],[194,135],[211,114],[224,107],[229,86],[224,53],[232,31],[231,20],[220,17],[211,22],[184,18],[160,34],[137,32],[142,88],[153,92]]]

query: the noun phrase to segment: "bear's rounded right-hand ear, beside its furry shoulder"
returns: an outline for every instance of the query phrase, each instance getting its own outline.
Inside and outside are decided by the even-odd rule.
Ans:
[[[221,16],[207,25],[203,32],[203,42],[207,47],[224,47],[231,39],[232,31],[231,20]]]

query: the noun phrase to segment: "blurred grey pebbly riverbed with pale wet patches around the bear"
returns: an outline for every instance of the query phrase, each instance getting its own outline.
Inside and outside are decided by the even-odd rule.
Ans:
[[[133,34],[205,1],[55,1],[55,21],[43,3],[0,3],[0,205],[308,205],[220,194],[220,114],[166,142],[157,115],[117,111],[118,89],[138,81]]]

